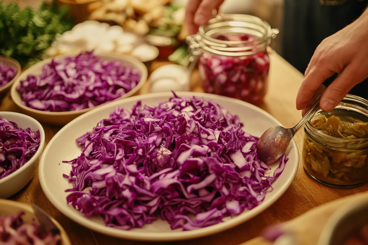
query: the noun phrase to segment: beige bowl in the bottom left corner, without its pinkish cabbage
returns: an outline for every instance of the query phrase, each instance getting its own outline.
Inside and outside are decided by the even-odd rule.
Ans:
[[[32,219],[36,218],[32,206],[26,203],[0,199],[0,216],[17,215],[20,211],[25,213],[22,216],[22,219],[25,222],[31,222]],[[69,237],[64,228],[54,218],[51,217],[51,220],[60,230],[61,245],[71,245]]]

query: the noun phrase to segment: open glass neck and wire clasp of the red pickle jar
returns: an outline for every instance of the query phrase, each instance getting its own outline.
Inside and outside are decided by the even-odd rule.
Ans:
[[[197,35],[190,36],[193,48],[202,48],[211,53],[227,56],[246,56],[259,53],[269,46],[279,33],[271,29],[265,20],[247,14],[217,15],[199,27]],[[246,34],[253,38],[246,41],[227,41],[218,36]],[[197,43],[198,45],[195,45]]]

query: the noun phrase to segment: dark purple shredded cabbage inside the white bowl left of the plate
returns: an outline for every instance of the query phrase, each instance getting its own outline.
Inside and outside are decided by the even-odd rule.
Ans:
[[[35,155],[40,132],[21,129],[0,116],[0,179],[14,173]]]

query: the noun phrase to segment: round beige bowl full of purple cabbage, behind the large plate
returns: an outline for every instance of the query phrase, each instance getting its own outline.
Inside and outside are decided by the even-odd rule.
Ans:
[[[137,94],[147,74],[146,66],[129,55],[59,55],[26,69],[11,98],[27,115],[65,125],[92,108]]]

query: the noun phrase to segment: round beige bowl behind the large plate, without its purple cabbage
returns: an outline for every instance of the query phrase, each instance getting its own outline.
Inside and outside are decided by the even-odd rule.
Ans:
[[[66,55],[66,54],[59,55],[59,56],[55,57],[55,59],[57,60],[57,59],[60,59],[60,58],[66,57],[66,56],[70,56],[70,55]],[[132,66],[132,67],[136,68],[141,73],[141,80],[139,81],[137,86],[135,86],[131,91],[124,94],[120,98],[117,98],[116,100],[120,100],[122,98],[127,98],[127,97],[134,96],[134,95],[138,94],[139,89],[141,89],[143,84],[146,82],[147,76],[148,76],[147,68],[141,61],[139,61],[138,59],[136,59],[132,56],[122,55],[122,54],[119,54],[119,55],[99,54],[98,56],[100,58],[102,58],[103,60],[118,60],[118,61],[121,61],[121,63],[123,65]],[[40,111],[40,110],[32,109],[32,108],[29,108],[29,107],[26,107],[25,105],[23,105],[21,94],[17,91],[17,87],[20,86],[21,80],[25,80],[28,75],[38,75],[42,71],[42,66],[45,65],[45,64],[50,63],[51,61],[52,61],[52,58],[48,58],[48,59],[43,60],[41,62],[38,62],[37,64],[35,64],[35,65],[31,66],[30,68],[26,69],[18,77],[18,79],[15,80],[15,82],[13,84],[13,87],[11,88],[11,92],[10,92],[11,98],[13,99],[14,103],[25,114],[27,114],[29,116],[32,116],[33,118],[35,118],[39,121],[42,121],[42,122],[50,123],[50,124],[53,124],[53,125],[63,126],[63,125],[66,125],[71,120],[73,120],[74,118],[76,118],[77,116],[82,115],[85,112],[90,111],[91,109],[100,106],[100,105],[97,105],[95,107],[86,108],[86,109],[82,109],[82,110],[78,110],[78,111],[47,112],[47,111]],[[111,102],[111,101],[109,101],[109,102]],[[108,102],[106,102],[106,103],[108,103]]]

